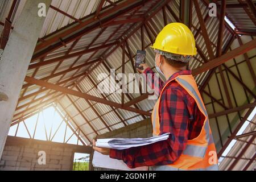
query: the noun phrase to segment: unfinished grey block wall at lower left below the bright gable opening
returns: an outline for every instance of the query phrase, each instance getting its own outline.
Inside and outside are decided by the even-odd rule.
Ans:
[[[46,164],[38,163],[39,151],[46,152]],[[75,152],[89,153],[90,148],[73,144],[44,142],[8,137],[0,161],[0,170],[69,171],[73,167]]]

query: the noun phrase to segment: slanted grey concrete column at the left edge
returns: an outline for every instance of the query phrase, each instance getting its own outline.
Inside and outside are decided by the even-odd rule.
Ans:
[[[46,5],[47,12],[51,0],[26,1],[0,60],[0,158],[28,65],[43,27],[45,17],[38,15],[39,3]]]

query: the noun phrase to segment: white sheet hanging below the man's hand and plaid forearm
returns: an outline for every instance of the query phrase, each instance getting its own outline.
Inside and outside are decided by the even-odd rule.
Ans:
[[[123,171],[146,171],[147,167],[137,167],[131,169],[122,160],[112,159],[109,155],[103,155],[97,151],[93,154],[93,167],[101,167],[107,169],[118,169]]]

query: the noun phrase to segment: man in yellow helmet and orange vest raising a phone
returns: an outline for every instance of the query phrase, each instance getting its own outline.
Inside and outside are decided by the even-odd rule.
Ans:
[[[110,158],[123,160],[130,168],[150,166],[152,170],[217,170],[217,154],[208,115],[196,82],[187,70],[196,55],[192,32],[182,23],[170,23],[154,45],[155,68],[166,78],[159,79],[160,96],[152,111],[153,135],[171,133],[168,140],[126,150],[95,147]],[[142,64],[141,73],[154,73]],[[151,79],[154,85],[154,78]]]

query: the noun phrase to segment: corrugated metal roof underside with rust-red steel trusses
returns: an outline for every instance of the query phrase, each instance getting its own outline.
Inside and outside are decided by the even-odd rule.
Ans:
[[[97,86],[102,81],[98,75],[106,73],[110,78],[110,69],[114,69],[115,74],[124,71],[128,77],[135,72],[133,59],[138,49],[147,52],[146,62],[155,71],[155,53],[150,46],[166,24],[184,22],[183,2],[53,0],[11,125],[54,105],[89,144],[95,135],[150,117],[154,100],[147,100],[144,93],[100,93]],[[226,1],[224,15],[234,28],[224,20],[220,1],[213,1],[217,5],[215,17],[208,14],[209,1],[190,2],[189,28],[195,36],[198,53],[189,69],[199,85],[221,157],[256,105],[256,49],[246,49],[255,43],[256,15],[251,3],[255,7],[256,1]],[[15,27],[24,3],[25,0],[0,2],[0,32],[10,14],[11,25]],[[214,61],[224,60],[222,55],[229,52],[230,55],[240,53],[229,55],[228,60],[213,67]],[[65,90],[61,91],[59,86]],[[255,119],[251,120],[253,127],[246,131],[255,131],[255,124]],[[243,154],[239,154],[245,152],[243,148],[249,140],[250,152],[244,159]],[[222,169],[243,169],[248,163],[247,169],[253,169],[255,133],[240,139],[239,143],[236,151],[229,155],[230,159],[223,160]],[[232,167],[228,165],[237,159],[244,160],[242,167],[241,162]]]

